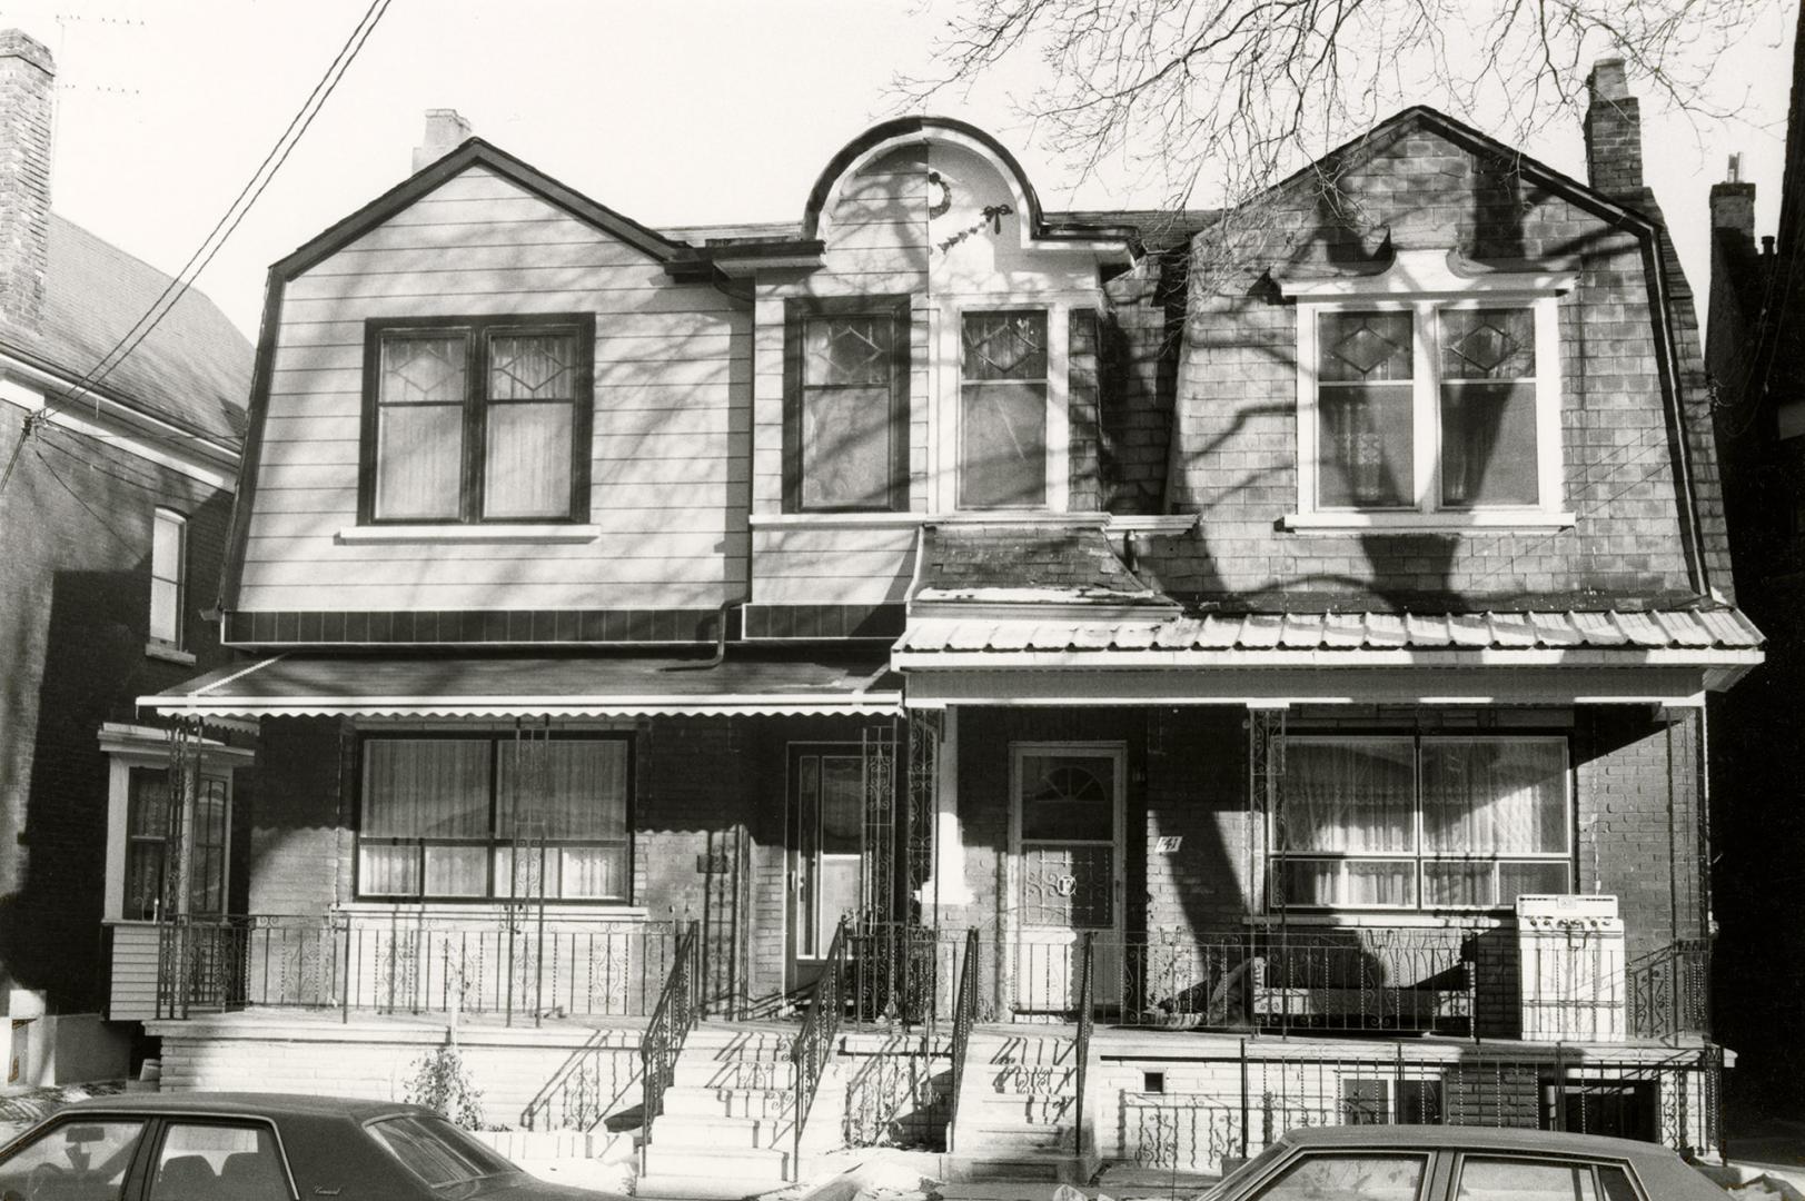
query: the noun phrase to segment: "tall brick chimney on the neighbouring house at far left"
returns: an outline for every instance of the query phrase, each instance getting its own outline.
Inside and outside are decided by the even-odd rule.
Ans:
[[[56,61],[18,29],[0,33],[0,323],[38,332],[51,246]]]

